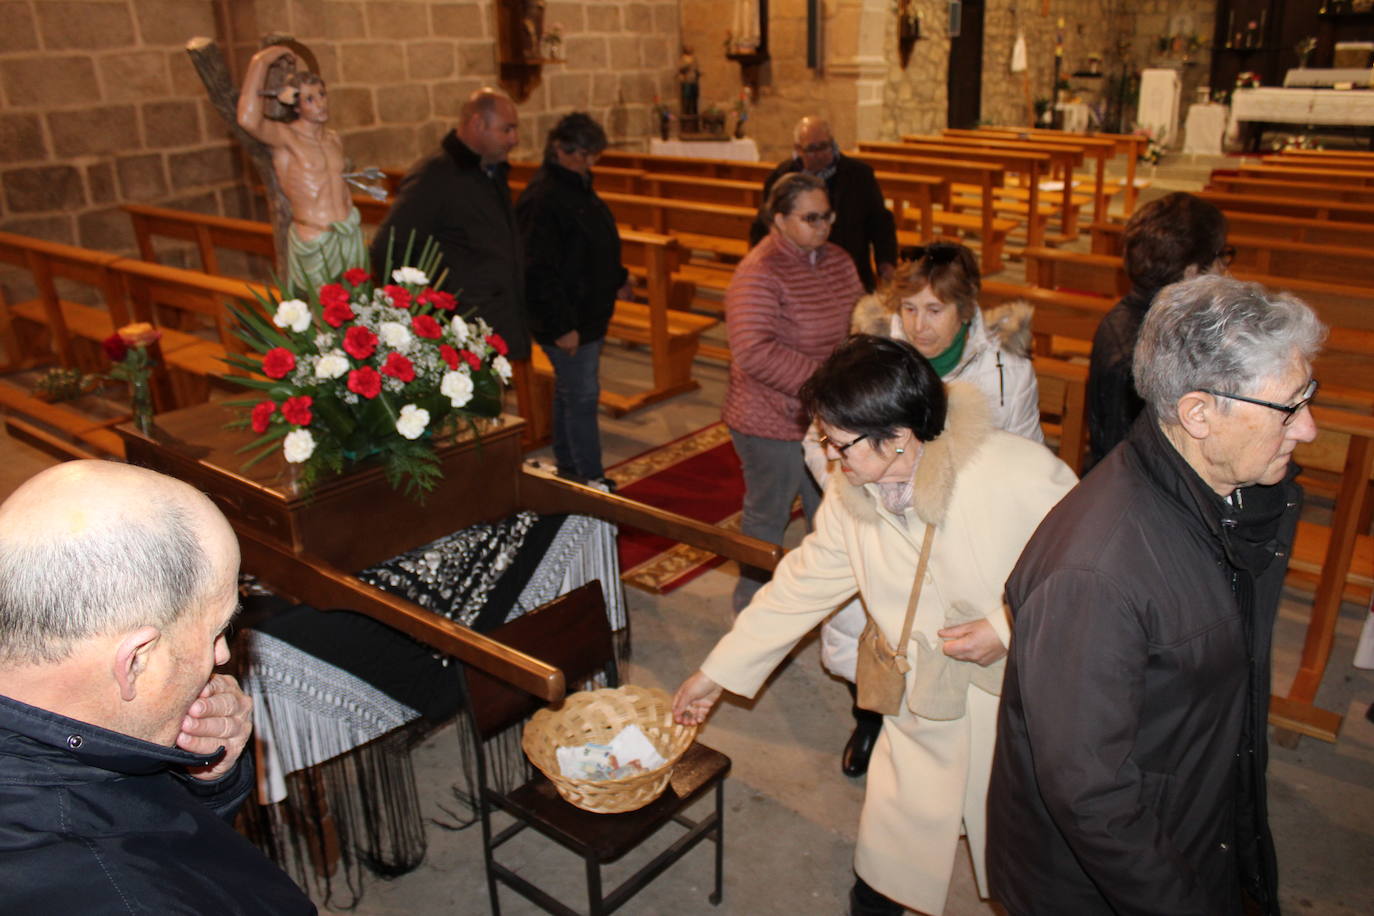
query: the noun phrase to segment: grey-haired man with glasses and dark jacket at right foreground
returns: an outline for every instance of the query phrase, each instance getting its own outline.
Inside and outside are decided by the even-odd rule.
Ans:
[[[1007,580],[988,872],[1014,916],[1279,912],[1270,643],[1323,334],[1228,277],[1156,297],[1145,412]]]

